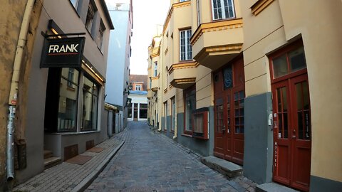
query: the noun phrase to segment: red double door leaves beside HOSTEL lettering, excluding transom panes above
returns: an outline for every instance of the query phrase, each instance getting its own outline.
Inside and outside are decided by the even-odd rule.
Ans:
[[[272,84],[274,181],[309,191],[311,113],[307,75]]]

